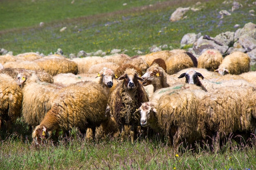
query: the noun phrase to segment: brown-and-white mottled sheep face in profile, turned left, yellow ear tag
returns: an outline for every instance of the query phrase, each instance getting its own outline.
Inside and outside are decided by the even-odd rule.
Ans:
[[[141,77],[144,79],[142,81],[143,86],[148,86],[149,84],[156,84],[156,80],[158,77],[162,76],[162,71],[158,70],[156,67],[153,69],[148,69],[148,71]]]

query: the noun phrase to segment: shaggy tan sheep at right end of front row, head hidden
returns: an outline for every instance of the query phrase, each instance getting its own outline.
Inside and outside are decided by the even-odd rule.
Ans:
[[[218,139],[246,130],[245,102],[253,91],[253,87],[227,86],[208,92],[198,105],[198,130],[203,139],[210,137],[219,148]]]

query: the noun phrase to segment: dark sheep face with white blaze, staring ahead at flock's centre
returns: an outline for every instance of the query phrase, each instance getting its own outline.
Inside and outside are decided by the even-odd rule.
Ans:
[[[141,77],[138,77],[137,73],[133,68],[127,68],[124,75],[119,77],[119,80],[124,79],[124,87],[128,90],[134,90],[138,86],[138,80],[143,81]]]

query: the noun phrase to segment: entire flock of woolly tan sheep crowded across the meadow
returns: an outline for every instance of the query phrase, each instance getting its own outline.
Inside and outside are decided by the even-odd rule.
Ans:
[[[196,141],[218,143],[256,134],[256,72],[250,58],[199,57],[182,49],[129,57],[67,59],[37,53],[0,56],[0,128],[18,117],[41,144],[72,128],[90,138],[160,134],[175,150]]]

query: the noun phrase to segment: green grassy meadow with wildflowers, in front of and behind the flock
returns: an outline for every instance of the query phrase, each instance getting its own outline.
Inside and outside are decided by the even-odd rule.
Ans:
[[[191,7],[198,0],[1,0],[0,48],[13,51],[54,53],[58,48],[63,55],[80,50],[110,53],[122,49],[137,55],[137,50],[149,53],[149,47],[167,44],[169,49],[180,48],[186,33],[216,35],[236,31],[256,18],[243,5],[232,15],[220,19],[219,11],[229,10],[232,3],[223,0],[201,1],[200,11],[189,11],[187,18],[170,22],[178,7]],[[252,4],[254,0],[238,0]],[[39,26],[44,22],[44,26]],[[63,32],[59,30],[63,27]],[[227,138],[228,139],[228,138]],[[70,137],[58,142],[49,141],[34,146],[31,130],[20,118],[11,133],[0,132],[0,169],[2,170],[55,170],[55,169],[121,169],[121,170],[254,170],[256,143],[241,146],[228,142],[221,150],[197,145],[189,150],[182,145],[175,153],[166,139],[158,136],[140,136],[135,144],[119,138],[86,140],[76,130]],[[213,146],[216,149],[217,146]]]

